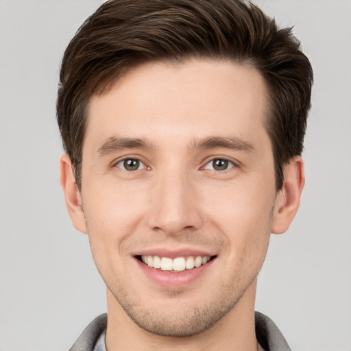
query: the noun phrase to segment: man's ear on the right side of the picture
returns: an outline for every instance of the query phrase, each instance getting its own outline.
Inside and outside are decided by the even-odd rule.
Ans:
[[[304,189],[304,161],[301,156],[292,158],[284,169],[284,184],[276,197],[271,232],[286,232],[300,206]]]

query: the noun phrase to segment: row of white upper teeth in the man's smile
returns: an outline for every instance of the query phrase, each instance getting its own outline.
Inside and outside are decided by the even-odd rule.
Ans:
[[[188,256],[168,258],[159,256],[141,256],[141,261],[149,267],[160,268],[162,271],[184,271],[208,263],[210,256]]]

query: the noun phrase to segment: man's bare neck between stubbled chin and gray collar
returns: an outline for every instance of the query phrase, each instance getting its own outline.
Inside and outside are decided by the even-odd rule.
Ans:
[[[256,351],[254,300],[256,279],[239,302],[212,327],[191,337],[164,337],[147,332],[135,324],[108,290],[108,351]]]

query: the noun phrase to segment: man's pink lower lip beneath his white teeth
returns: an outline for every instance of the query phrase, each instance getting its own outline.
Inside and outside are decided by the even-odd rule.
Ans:
[[[161,271],[160,269],[149,267],[145,265],[145,263],[139,261],[138,258],[135,258],[135,260],[148,278],[154,280],[154,282],[161,287],[168,288],[180,288],[191,284],[191,282],[203,276],[215,261],[215,259],[212,259],[206,263],[206,265],[172,273],[170,271]]]

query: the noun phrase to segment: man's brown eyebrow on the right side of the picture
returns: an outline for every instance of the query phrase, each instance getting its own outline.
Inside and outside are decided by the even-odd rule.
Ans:
[[[256,154],[256,150],[252,143],[237,138],[236,136],[210,136],[208,138],[194,140],[191,147],[192,149],[216,149],[217,147],[221,147],[224,149],[234,149]]]

